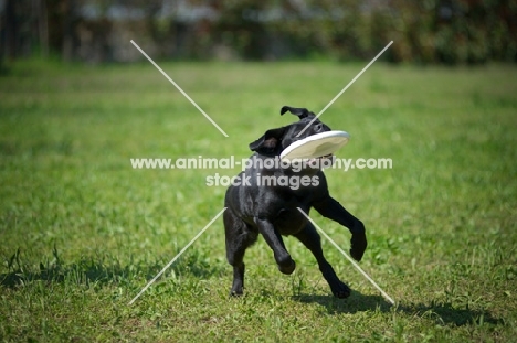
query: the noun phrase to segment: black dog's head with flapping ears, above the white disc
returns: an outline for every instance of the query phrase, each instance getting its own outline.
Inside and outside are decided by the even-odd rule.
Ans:
[[[267,130],[261,138],[250,143],[250,149],[256,151],[260,154],[270,157],[279,156],[285,148],[291,146],[293,142],[307,138],[309,136],[330,131],[330,128],[319,121],[314,120],[313,124],[299,136],[297,135],[316,117],[315,114],[307,110],[306,108],[294,108],[284,106],[281,109],[281,115],[286,111],[297,116],[299,120],[288,126],[284,126],[277,129]]]

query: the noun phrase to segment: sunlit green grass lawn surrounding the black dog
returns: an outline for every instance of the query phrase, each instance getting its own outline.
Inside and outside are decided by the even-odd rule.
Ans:
[[[23,62],[0,78],[0,340],[509,342],[517,336],[517,68],[371,66],[321,117],[350,132],[341,158],[392,170],[328,170],[331,194],[367,226],[362,268],[327,242],[355,292],[331,297],[286,239],[281,275],[261,239],[245,296],[230,299],[215,172],[133,170],[130,158],[250,154],[283,105],[319,111],[363,67],[162,63],[224,138],[151,65]],[[340,246],[350,235],[316,212]]]

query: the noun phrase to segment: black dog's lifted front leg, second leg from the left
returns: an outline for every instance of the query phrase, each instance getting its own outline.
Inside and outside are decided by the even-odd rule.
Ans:
[[[262,234],[264,239],[266,240],[267,245],[273,250],[275,256],[275,261],[278,265],[278,270],[283,274],[292,274],[295,268],[296,264],[291,258],[289,253],[285,249],[284,240],[282,239],[282,235],[275,229],[273,224],[267,219],[255,218],[255,224],[258,227],[258,232]]]

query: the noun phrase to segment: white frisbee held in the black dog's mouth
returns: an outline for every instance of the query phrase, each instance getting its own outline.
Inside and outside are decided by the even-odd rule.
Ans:
[[[345,131],[326,131],[300,139],[285,148],[282,160],[320,158],[342,148],[350,135]]]

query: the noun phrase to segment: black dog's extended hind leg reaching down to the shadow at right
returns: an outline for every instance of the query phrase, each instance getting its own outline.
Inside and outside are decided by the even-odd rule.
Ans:
[[[316,228],[313,226],[313,224],[307,223],[305,228],[294,236],[298,238],[313,253],[314,257],[316,257],[319,270],[321,271],[325,280],[327,280],[328,286],[330,286],[333,294],[337,298],[348,298],[350,296],[350,288],[345,282],[339,280],[336,272],[334,271],[333,266],[330,266],[330,264],[325,258],[321,249],[321,238],[319,237],[319,234],[316,232]]]

